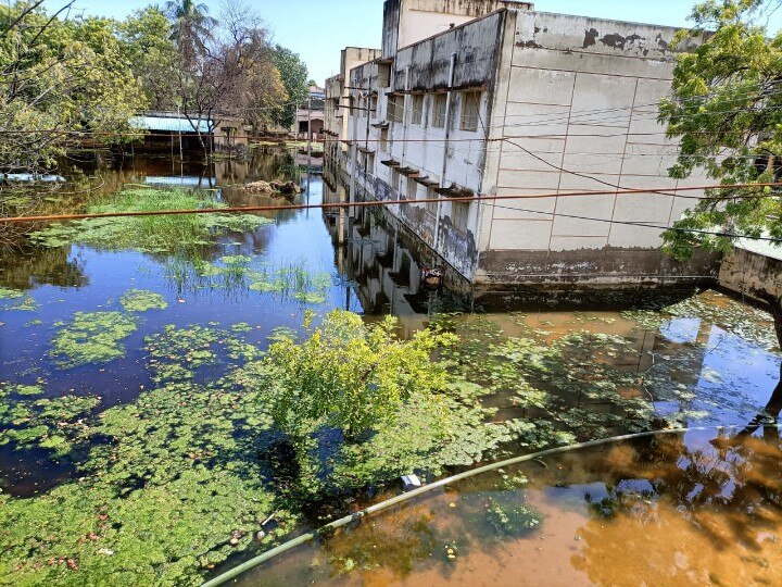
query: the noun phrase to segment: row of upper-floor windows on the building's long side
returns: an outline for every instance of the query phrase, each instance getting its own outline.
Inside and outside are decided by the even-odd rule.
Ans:
[[[413,93],[409,100],[401,93],[388,97],[387,117],[392,123],[404,123],[409,104],[409,123],[416,126],[431,124],[433,128],[444,128],[447,116],[447,93]],[[455,118],[458,110],[459,129],[478,130],[482,92],[465,90],[453,92],[451,111]],[[358,100],[358,116],[366,117],[369,112],[377,113],[377,96]]]

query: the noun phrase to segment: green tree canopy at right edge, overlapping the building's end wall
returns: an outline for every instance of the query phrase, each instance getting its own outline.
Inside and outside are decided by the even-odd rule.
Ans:
[[[703,43],[682,52],[672,96],[660,104],[669,137],[680,139],[673,177],[706,170],[721,185],[772,183],[782,170],[782,34],[767,30],[775,0],[709,0],[693,9]],[[708,190],[665,235],[680,260],[696,247],[730,250],[739,235],[782,238],[782,204],[768,187]],[[709,234],[716,233],[716,234]]]

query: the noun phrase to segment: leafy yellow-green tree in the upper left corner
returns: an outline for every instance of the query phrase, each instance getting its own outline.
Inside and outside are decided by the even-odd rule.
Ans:
[[[41,4],[0,5],[0,172],[51,167],[83,137],[125,140],[143,102],[112,21]]]

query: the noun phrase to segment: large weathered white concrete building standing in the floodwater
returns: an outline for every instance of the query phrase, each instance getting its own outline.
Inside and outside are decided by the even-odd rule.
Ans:
[[[387,0],[380,57],[348,68],[343,52],[344,82],[327,84],[350,110],[327,105],[326,129],[351,147],[353,197],[407,200],[388,212],[470,284],[704,280],[714,257],[659,250],[701,196],[665,188],[708,183],[668,178],[677,145],[656,104],[676,32],[509,0]],[[569,195],[584,191],[604,193]],[[442,197],[465,200],[416,203]]]

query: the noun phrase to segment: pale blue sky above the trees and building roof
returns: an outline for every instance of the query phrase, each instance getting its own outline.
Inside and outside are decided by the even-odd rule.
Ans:
[[[49,9],[64,0],[48,0]],[[87,14],[123,18],[150,0],[76,0],[76,10]],[[205,0],[212,15],[219,14],[219,0]],[[694,0],[538,0],[535,10],[581,14],[619,21],[688,26],[686,17]],[[244,0],[266,21],[275,42],[297,53],[310,67],[311,77],[319,84],[338,73],[340,50],[345,46],[380,47],[382,0]],[[782,26],[782,15],[771,21],[773,30]]]

